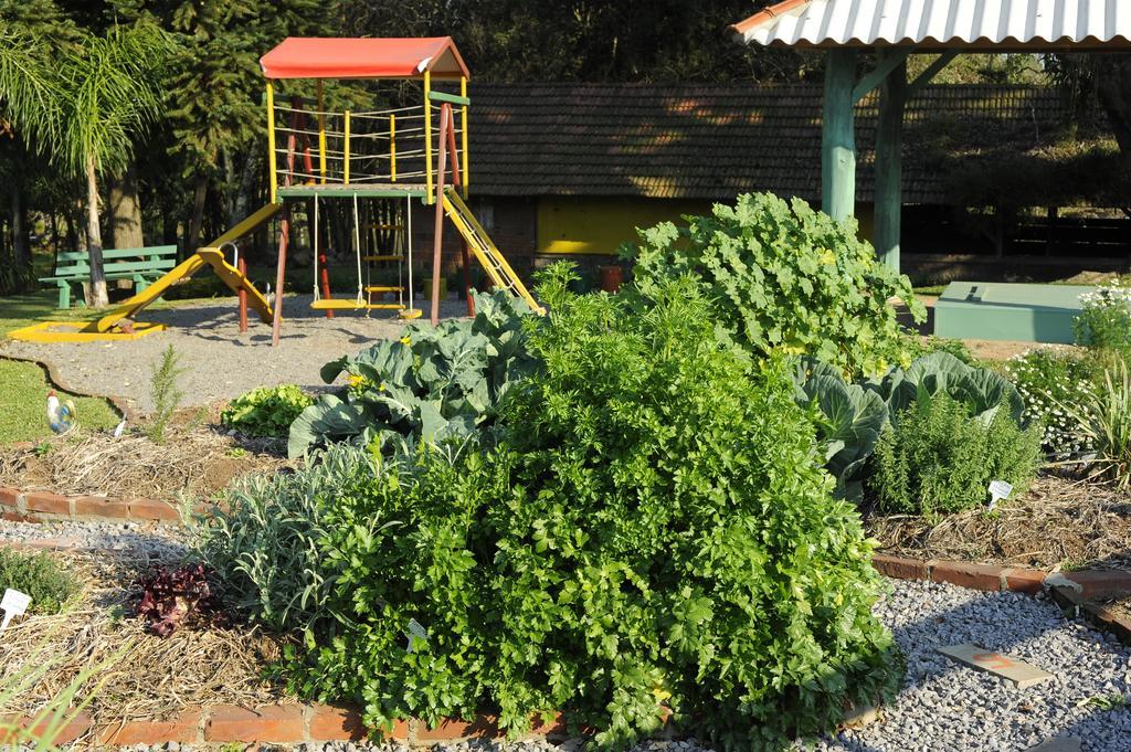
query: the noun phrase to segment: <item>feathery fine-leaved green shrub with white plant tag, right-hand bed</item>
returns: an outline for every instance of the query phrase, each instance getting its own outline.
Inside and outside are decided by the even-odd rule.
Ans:
[[[952,513],[985,503],[991,481],[1024,492],[1041,455],[1037,429],[1005,410],[972,420],[968,405],[940,394],[912,404],[880,434],[865,481],[883,512]]]

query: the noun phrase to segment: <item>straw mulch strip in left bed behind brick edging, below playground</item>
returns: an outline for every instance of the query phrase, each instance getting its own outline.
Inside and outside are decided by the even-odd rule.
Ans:
[[[290,467],[277,439],[249,440],[201,425],[170,430],[162,443],[141,432],[114,439],[83,433],[43,446],[0,449],[0,485],[63,495],[176,501],[209,499],[234,477]]]

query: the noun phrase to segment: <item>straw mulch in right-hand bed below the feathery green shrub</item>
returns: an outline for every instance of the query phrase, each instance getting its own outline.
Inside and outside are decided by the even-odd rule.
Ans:
[[[867,516],[884,553],[1039,569],[1131,569],[1131,496],[1055,476],[987,513],[974,509],[929,520]]]

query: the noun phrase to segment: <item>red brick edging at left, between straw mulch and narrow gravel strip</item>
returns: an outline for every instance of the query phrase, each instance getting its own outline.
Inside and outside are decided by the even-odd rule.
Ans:
[[[211,504],[197,504],[196,513],[206,513]],[[106,496],[63,496],[50,491],[19,491],[0,486],[0,519],[11,522],[57,520],[137,520],[180,522],[176,504],[154,499],[107,499]]]

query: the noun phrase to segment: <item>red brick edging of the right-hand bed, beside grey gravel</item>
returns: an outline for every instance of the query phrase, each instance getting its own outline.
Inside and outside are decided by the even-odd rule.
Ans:
[[[1096,629],[1111,632],[1124,645],[1131,645],[1131,616],[1091,603],[1093,598],[1131,595],[1131,572],[1099,569],[1044,572],[1039,569],[936,559],[922,561],[887,554],[874,554],[872,567],[881,574],[897,580],[949,582],[972,590],[1036,595],[1047,589],[1062,608],[1074,611]]]

